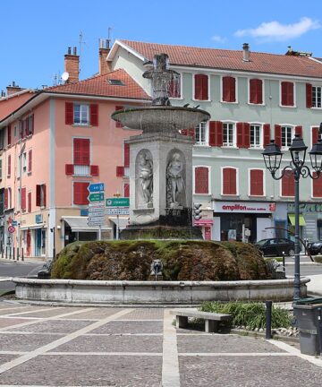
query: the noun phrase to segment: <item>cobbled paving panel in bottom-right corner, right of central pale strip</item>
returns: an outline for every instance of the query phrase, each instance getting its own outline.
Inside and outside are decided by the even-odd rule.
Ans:
[[[322,383],[322,368],[297,357],[179,357],[179,365],[181,387],[320,387]]]

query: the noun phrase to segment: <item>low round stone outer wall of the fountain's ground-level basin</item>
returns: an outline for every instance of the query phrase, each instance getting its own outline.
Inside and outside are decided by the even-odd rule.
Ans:
[[[195,305],[203,301],[291,301],[294,280],[130,281],[13,278],[16,297],[32,301],[88,304]],[[307,297],[308,278],[301,278]]]

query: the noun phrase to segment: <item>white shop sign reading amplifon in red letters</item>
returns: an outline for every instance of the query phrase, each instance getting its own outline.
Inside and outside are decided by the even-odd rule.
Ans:
[[[271,213],[275,202],[214,202],[214,212]]]

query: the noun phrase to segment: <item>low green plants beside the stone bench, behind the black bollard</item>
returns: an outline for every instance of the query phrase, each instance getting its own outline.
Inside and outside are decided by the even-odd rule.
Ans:
[[[227,303],[212,301],[200,306],[203,312],[232,314],[233,326],[247,326],[250,330],[265,328],[266,307],[263,303],[230,301]],[[286,309],[273,305],[272,328],[288,328],[291,325],[292,315]]]

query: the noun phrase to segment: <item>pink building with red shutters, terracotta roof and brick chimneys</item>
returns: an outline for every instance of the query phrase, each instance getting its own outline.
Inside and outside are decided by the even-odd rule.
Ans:
[[[89,183],[105,183],[106,197],[129,195],[124,139],[135,133],[118,127],[111,114],[149,97],[124,70],[108,72],[106,49],[100,47],[100,74],[80,82],[79,56],[69,50],[63,85],[0,115],[1,244],[7,254],[14,246],[25,257],[51,257],[73,240],[97,239],[97,228],[87,223]],[[114,218],[106,217],[102,238],[113,238],[114,227]]]

